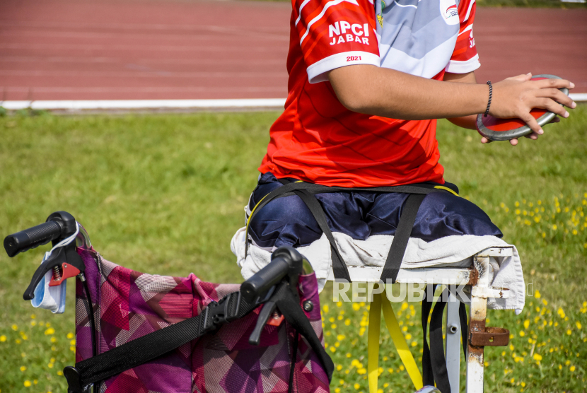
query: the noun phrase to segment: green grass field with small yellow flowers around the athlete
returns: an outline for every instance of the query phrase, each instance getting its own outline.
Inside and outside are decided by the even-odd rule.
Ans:
[[[229,242],[243,226],[243,206],[277,115],[0,117],[0,234],[66,210],[112,262],[151,274],[193,271],[207,281],[240,282]],[[518,317],[489,312],[491,325],[511,330],[513,349],[485,351],[487,392],[585,392],[586,129],[585,106],[547,127],[539,141],[524,139],[515,148],[482,145],[474,131],[439,122],[446,179],[517,245],[525,278],[541,295],[528,298]],[[67,336],[74,332],[73,285],[64,315],[34,310],[21,297],[46,250],[13,259],[0,253],[1,392],[64,392],[58,371],[74,363]],[[338,306],[330,293],[327,288],[322,305],[329,306],[326,341],[339,367],[332,388],[367,392],[361,327],[368,305]],[[394,305],[418,358],[419,306],[409,306]],[[381,341],[380,387],[408,392],[409,380],[399,372],[387,332]]]

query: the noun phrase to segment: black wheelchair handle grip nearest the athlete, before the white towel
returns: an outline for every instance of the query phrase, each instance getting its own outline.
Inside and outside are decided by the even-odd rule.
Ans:
[[[292,247],[279,247],[271,256],[271,262],[257,271],[240,286],[240,293],[248,302],[263,295],[285,276],[298,277],[301,274],[303,257]]]

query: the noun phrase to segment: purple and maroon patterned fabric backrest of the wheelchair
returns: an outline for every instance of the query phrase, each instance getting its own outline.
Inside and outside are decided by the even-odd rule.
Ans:
[[[194,274],[153,276],[103,259],[98,252],[78,249],[86,265],[86,280],[95,315],[98,354],[170,324],[194,317],[212,301],[238,291],[239,284],[214,284]],[[324,342],[318,284],[314,274],[301,276],[301,302],[315,307],[306,312]],[[76,279],[76,363],[92,357],[91,324],[86,294]],[[330,392],[320,360],[299,335],[294,383],[289,390],[294,329],[285,320],[267,324],[259,346],[248,338],[259,309],[180,346],[165,356],[110,377],[100,393],[311,393]]]

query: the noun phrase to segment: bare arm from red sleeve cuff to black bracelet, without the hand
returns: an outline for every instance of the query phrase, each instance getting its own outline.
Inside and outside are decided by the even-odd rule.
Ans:
[[[482,113],[489,87],[473,83],[444,83],[371,65],[330,71],[339,101],[354,112],[420,120],[463,117]]]

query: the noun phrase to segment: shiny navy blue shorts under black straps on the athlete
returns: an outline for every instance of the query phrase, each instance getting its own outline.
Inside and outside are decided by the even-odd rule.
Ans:
[[[296,180],[296,179],[292,179]],[[445,184],[446,185],[446,184]],[[451,184],[451,188],[456,187]],[[249,209],[282,184],[270,172],[252,192]],[[458,189],[456,189],[458,192]],[[316,194],[332,232],[366,240],[371,235],[395,235],[402,206],[409,194],[398,192],[333,192]],[[255,213],[249,235],[259,247],[303,247],[320,239],[322,230],[306,204],[297,196],[274,199]],[[494,235],[501,230],[479,206],[448,192],[426,195],[412,229],[412,237],[426,242],[451,235]]]

